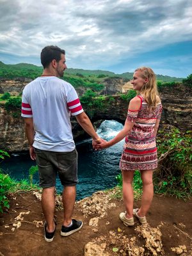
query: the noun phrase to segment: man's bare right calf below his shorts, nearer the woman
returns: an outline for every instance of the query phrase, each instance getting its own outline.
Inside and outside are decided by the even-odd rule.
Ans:
[[[72,212],[76,201],[76,186],[65,186],[63,189],[63,226],[67,227],[72,221]]]

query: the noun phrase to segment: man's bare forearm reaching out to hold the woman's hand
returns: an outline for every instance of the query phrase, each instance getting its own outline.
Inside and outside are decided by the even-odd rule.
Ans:
[[[90,121],[90,118],[88,118],[86,113],[82,112],[79,115],[76,115],[76,119],[77,119],[77,122],[79,123],[79,125],[81,125],[81,127],[84,129],[84,131],[86,131],[88,134],[90,134],[90,136],[92,136],[93,144],[99,143],[100,138],[97,135],[97,133],[95,132],[93,125]]]

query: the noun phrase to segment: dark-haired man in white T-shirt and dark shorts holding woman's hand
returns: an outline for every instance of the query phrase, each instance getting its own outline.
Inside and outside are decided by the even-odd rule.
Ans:
[[[83,226],[72,219],[76,200],[77,151],[72,137],[70,114],[93,138],[93,147],[100,138],[84,113],[74,87],[59,79],[65,68],[65,51],[57,46],[42,49],[41,77],[27,84],[22,93],[22,116],[29,142],[29,154],[38,165],[45,216],[45,241],[51,242],[56,230],[54,190],[58,173],[63,189],[63,225],[61,236],[69,236]]]

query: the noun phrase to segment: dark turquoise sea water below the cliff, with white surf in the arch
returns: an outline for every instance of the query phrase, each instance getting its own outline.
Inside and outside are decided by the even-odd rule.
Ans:
[[[97,134],[105,140],[113,138],[123,125],[105,120],[97,129]],[[92,141],[84,140],[76,144],[78,159],[77,200],[92,195],[93,192],[113,188],[116,185],[116,175],[120,173],[118,168],[124,141],[120,141],[111,148],[102,151],[92,150]],[[12,154],[0,165],[4,172],[14,179],[28,179],[29,168],[36,165],[28,153]],[[34,182],[38,183],[38,173],[34,175]],[[63,190],[60,180],[56,180],[56,189],[60,193]]]

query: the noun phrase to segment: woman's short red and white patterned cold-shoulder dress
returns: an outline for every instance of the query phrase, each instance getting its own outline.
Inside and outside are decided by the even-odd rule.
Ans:
[[[129,135],[125,137],[124,149],[120,159],[120,169],[154,170],[157,168],[157,147],[154,127],[161,118],[162,105],[159,102],[154,110],[148,109],[143,95],[138,95],[141,106],[138,111],[128,109],[127,122],[135,122]]]

